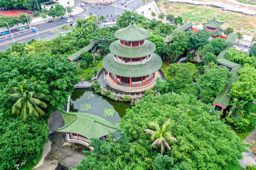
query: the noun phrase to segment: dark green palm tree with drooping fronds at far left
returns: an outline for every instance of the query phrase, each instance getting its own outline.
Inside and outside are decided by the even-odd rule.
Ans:
[[[11,87],[10,90],[14,93],[6,94],[5,96],[16,101],[11,108],[12,114],[21,115],[23,119],[26,119],[27,115],[31,114],[35,114],[37,117],[45,115],[45,112],[38,106],[47,108],[46,103],[39,100],[45,98],[46,95],[27,91],[27,80],[24,80],[18,87]]]

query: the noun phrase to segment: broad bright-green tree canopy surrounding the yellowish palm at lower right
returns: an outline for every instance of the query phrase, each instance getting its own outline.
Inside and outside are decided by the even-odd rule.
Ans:
[[[211,110],[211,111],[210,111]],[[219,120],[220,112],[213,106],[197,101],[187,94],[165,93],[147,95],[127,110],[119,126],[121,139],[107,142],[93,139],[92,152],[86,152],[77,170],[241,170],[238,159],[246,151],[245,144],[230,127]],[[152,146],[150,135],[144,129],[150,122],[163,124],[177,139],[171,151]]]

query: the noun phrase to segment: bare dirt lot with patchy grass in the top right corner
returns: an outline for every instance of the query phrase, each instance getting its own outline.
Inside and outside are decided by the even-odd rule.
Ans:
[[[213,0],[203,0],[204,2],[213,2]],[[245,4],[240,5],[232,0],[214,0],[224,2],[230,5],[241,6],[256,10],[255,6]],[[223,29],[228,26],[234,29],[234,32],[242,32],[245,35],[256,36],[256,16],[247,16],[237,12],[221,10],[210,6],[191,5],[185,3],[170,3],[168,0],[159,0],[156,2],[160,12],[173,14],[175,17],[181,16],[185,22],[193,22],[195,25],[205,23],[207,19],[216,17],[218,21],[225,21]],[[248,6],[247,6],[248,5]]]

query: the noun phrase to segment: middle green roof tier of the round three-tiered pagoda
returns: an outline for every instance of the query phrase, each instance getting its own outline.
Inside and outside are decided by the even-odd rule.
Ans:
[[[125,58],[140,58],[152,54],[155,51],[155,44],[145,40],[145,44],[139,47],[126,47],[120,44],[119,40],[110,44],[110,51]]]

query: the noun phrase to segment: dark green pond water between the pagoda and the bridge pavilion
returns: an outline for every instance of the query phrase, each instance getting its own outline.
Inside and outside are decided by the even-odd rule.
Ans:
[[[83,107],[82,105],[84,104],[88,107]],[[86,109],[84,110],[84,108]],[[109,120],[114,125],[126,114],[126,109],[128,108],[131,108],[130,102],[113,101],[101,94],[95,94],[91,88],[75,89],[71,95],[70,112],[83,112],[97,115]],[[105,109],[114,110],[114,114],[112,116],[103,116]]]

